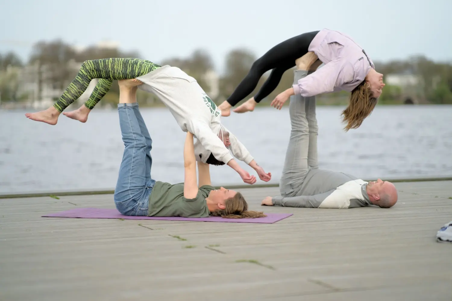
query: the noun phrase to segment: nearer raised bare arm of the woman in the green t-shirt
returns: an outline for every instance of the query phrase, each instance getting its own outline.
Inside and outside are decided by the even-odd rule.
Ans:
[[[193,146],[193,134],[187,132],[184,144],[184,197],[194,199],[198,195],[196,183],[196,158]]]

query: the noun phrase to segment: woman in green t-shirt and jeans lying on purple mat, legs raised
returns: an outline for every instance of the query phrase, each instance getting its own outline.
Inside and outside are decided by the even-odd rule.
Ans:
[[[184,144],[184,183],[170,184],[151,178],[152,139],[138,109],[137,85],[134,80],[118,82],[119,124],[124,142],[124,154],[114,193],[116,208],[123,215],[182,216],[224,218],[264,217],[262,212],[248,211],[240,192],[223,187],[216,190],[210,180],[209,165],[198,162],[193,134],[187,133]]]

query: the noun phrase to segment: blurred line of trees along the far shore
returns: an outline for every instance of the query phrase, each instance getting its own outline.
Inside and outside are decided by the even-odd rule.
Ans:
[[[2,100],[21,101],[26,100],[27,95],[18,93],[22,81],[20,75],[28,69],[36,71],[38,86],[38,99],[41,99],[42,86],[44,84],[52,86],[53,89],[61,92],[74,79],[80,65],[85,60],[93,60],[108,57],[136,57],[142,58],[137,52],[123,52],[117,48],[105,48],[91,46],[81,51],[76,51],[71,45],[62,40],[50,42],[38,42],[34,44],[32,54],[28,62],[22,62],[14,53],[0,54],[0,96]],[[218,93],[212,97],[217,103],[221,103],[234,91],[240,81],[247,75],[251,65],[257,57],[247,49],[233,49],[225,57],[225,70],[218,75]],[[197,79],[202,88],[208,92],[211,90],[211,82],[207,78],[207,73],[215,69],[212,57],[202,49],[195,50],[189,57],[168,58],[160,65],[176,66]],[[382,103],[400,103],[401,98],[407,93],[413,97],[424,98],[435,104],[452,104],[452,64],[433,62],[426,57],[411,57],[404,61],[376,62],[376,69],[383,74],[412,74],[418,76],[421,81],[406,91],[400,86],[386,85],[380,97]],[[25,70],[25,71],[24,71]],[[278,93],[284,91],[293,83],[293,68],[287,70],[275,91],[263,102],[273,100]],[[258,86],[244,100],[253,96],[267,79],[267,72],[262,76]],[[101,101],[101,105],[118,102],[118,85],[113,82],[113,86],[108,94]],[[318,96],[319,104],[344,104],[347,101],[348,93],[329,93]],[[57,98],[57,97],[56,97]],[[150,93],[138,90],[137,98],[139,102],[148,105],[158,105],[160,101]]]

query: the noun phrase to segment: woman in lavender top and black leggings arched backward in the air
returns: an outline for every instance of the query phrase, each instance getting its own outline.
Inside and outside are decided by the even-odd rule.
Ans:
[[[295,61],[308,52],[315,53],[325,66],[280,93],[271,105],[281,110],[291,95],[309,97],[345,90],[351,92],[349,105],[343,111],[344,122],[347,123],[345,129],[358,128],[377,104],[377,99],[385,86],[383,74],[375,71],[366,52],[350,37],[329,29],[290,38],[256,60],[232,95],[218,106],[221,115],[229,116],[231,107],[254,90],[259,78],[265,72],[272,70],[260,91],[237,107],[234,112],[244,113],[254,110],[255,105],[278,86],[282,74],[294,67]]]

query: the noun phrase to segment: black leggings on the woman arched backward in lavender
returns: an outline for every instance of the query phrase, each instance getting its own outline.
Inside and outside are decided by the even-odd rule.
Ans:
[[[268,50],[262,57],[257,59],[251,66],[248,75],[235,88],[235,91],[229,96],[227,102],[235,106],[240,100],[253,92],[257,86],[260,77],[270,69],[273,69],[265,81],[262,88],[254,96],[256,102],[267,97],[278,86],[282,74],[295,66],[295,60],[308,52],[309,45],[319,31],[303,33],[299,36],[289,38]]]

